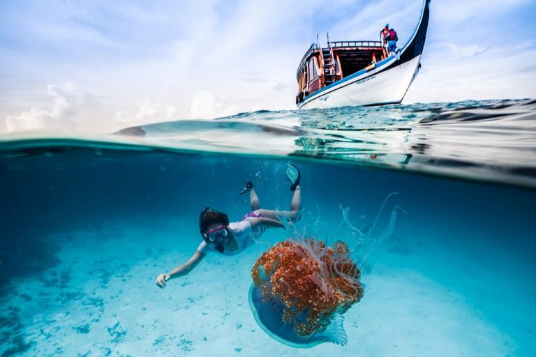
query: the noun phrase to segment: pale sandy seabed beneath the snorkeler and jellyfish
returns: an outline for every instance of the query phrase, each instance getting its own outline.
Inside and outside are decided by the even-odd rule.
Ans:
[[[45,237],[57,245],[59,264],[7,287],[1,356],[535,354],[533,291],[506,309],[502,302],[519,298],[522,287],[503,289],[511,292],[497,301],[482,296],[482,287],[491,289],[508,272],[498,277],[486,266],[454,262],[455,248],[403,238],[385,241],[374,255],[364,298],[345,314],[346,346],[287,347],[259,328],[248,305],[251,266],[277,232],[242,255],[209,255],[158,289],[156,275],[186,261],[200,242],[195,231],[177,227],[110,221]],[[501,321],[511,319],[522,328],[504,328]]]

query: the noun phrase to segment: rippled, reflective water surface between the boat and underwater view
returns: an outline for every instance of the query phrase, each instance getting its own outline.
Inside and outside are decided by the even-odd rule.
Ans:
[[[2,146],[24,147],[27,154],[39,146],[84,145],[75,143],[82,137],[54,139],[59,137],[29,144],[4,138]],[[135,126],[84,140],[131,149],[292,155],[536,188],[536,100],[258,111]]]

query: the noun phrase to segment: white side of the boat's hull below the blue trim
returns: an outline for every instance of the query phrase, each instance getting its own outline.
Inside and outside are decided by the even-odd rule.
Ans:
[[[421,56],[398,66],[384,66],[369,70],[346,82],[327,87],[320,93],[305,98],[299,109],[332,108],[345,105],[382,105],[399,103],[419,69]]]

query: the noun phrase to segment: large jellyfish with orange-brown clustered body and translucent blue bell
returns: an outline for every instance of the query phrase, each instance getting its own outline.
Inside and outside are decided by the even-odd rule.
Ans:
[[[341,209],[343,219],[336,227],[325,227],[316,218],[306,222],[304,226],[309,229],[303,234],[296,234],[292,227],[294,237],[262,253],[251,269],[249,305],[253,317],[278,342],[299,348],[348,342],[344,313],[364,294],[359,266],[364,266],[364,258],[392,234],[396,211],[403,210],[399,206],[393,209],[385,229],[378,228],[380,213],[372,226],[359,229],[348,218],[349,208]],[[322,231],[345,231],[352,249],[341,240],[329,244],[327,239],[317,238]]]

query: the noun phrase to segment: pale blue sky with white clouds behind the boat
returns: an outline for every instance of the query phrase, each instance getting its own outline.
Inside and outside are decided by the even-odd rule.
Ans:
[[[295,109],[317,34],[399,46],[421,0],[0,0],[0,133]],[[536,98],[536,0],[432,0],[403,100]]]

